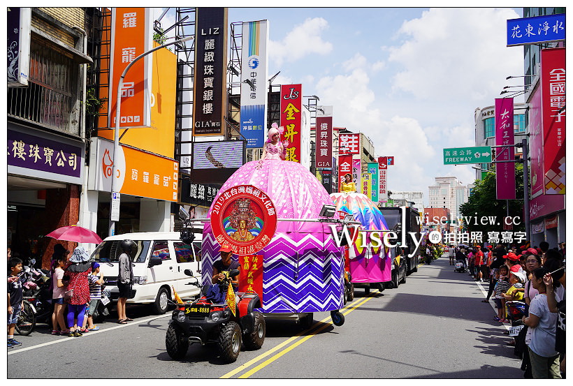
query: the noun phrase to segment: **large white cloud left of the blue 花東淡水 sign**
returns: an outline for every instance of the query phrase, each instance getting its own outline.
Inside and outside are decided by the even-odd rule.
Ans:
[[[505,41],[507,20],[516,17],[512,9],[432,8],[404,22],[399,34],[407,40],[389,47],[389,61],[403,68],[394,89],[473,103],[498,96],[507,75],[523,73],[523,50]]]

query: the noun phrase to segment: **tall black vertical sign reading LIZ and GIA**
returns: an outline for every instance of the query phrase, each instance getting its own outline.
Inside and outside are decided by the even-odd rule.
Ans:
[[[193,135],[223,135],[227,8],[196,8]]]

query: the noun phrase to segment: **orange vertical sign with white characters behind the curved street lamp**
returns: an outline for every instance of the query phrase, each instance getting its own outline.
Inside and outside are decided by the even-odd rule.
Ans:
[[[140,54],[152,48],[150,8],[112,8],[108,127],[115,127],[119,78]],[[120,128],[151,126],[152,56],[136,61],[124,77]]]

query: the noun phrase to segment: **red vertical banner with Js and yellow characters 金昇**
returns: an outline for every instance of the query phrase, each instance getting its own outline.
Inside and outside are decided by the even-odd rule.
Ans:
[[[280,126],[284,127],[281,140],[289,141],[286,161],[300,163],[303,85],[286,84],[280,87]]]

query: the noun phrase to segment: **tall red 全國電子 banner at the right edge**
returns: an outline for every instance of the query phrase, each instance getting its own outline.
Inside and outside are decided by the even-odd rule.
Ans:
[[[565,48],[541,51],[544,193],[565,194]]]

